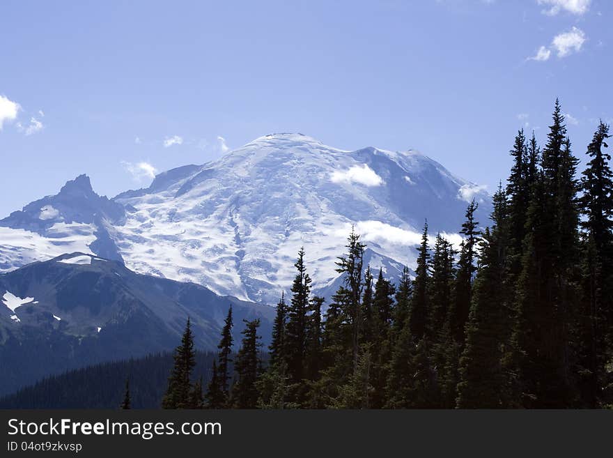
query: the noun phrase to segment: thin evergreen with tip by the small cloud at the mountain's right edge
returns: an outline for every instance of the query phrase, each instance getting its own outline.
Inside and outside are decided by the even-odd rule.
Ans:
[[[464,236],[464,241],[460,248],[460,259],[458,260],[458,273],[454,290],[455,300],[453,301],[453,310],[450,317],[451,331],[460,346],[464,345],[464,328],[470,312],[472,281],[476,271],[474,261],[476,243],[479,241],[479,230],[477,229],[479,222],[474,220],[474,212],[477,206],[473,199],[466,209],[466,220],[460,230],[460,234]]]

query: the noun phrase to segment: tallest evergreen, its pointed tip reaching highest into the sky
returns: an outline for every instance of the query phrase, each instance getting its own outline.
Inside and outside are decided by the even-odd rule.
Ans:
[[[577,309],[577,160],[556,101],[542,171],[527,211],[511,352],[514,405],[570,406],[574,314]]]

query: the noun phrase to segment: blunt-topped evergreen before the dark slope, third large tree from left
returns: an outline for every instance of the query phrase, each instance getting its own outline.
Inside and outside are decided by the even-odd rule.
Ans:
[[[260,320],[245,321],[241,334],[242,342],[236,355],[235,371],[238,376],[232,390],[233,406],[237,409],[255,409],[258,406],[258,376],[261,360],[259,351],[261,337],[258,336]]]

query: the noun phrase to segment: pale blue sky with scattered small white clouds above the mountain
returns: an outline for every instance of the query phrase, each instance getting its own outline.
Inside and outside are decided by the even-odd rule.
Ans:
[[[557,96],[580,157],[612,121],[612,25],[605,0],[5,0],[0,216],[270,132],[417,148],[491,191]]]

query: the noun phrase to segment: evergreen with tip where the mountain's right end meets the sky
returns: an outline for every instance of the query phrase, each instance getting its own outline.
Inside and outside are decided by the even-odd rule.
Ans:
[[[466,343],[460,358],[458,407],[499,408],[505,406],[504,291],[507,272],[508,233],[506,199],[502,189],[494,196],[492,231],[486,229],[481,241],[481,262],[473,288],[466,327]]]

